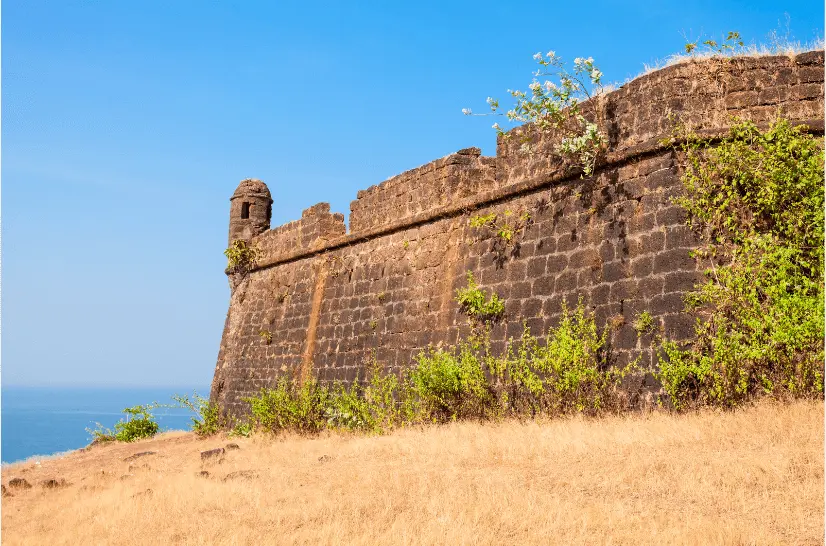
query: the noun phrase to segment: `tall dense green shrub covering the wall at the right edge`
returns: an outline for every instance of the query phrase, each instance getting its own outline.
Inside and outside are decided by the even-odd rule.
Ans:
[[[745,122],[715,147],[684,146],[677,199],[702,239],[708,280],[689,294],[696,339],[660,348],[672,405],[734,407],[760,394],[821,397],[823,149],[787,121]]]

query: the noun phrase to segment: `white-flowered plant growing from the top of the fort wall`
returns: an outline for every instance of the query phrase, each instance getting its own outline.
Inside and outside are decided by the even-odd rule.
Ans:
[[[598,125],[601,110],[597,101],[591,100],[605,91],[602,72],[591,57],[574,59],[573,70],[553,51],[537,53],[533,58],[539,69],[528,91],[508,90],[514,102],[510,109],[503,113],[499,100],[488,97],[489,113],[473,114],[469,108],[462,113],[504,116],[510,122],[533,123],[541,132],[555,132],[561,136],[555,152],[590,176],[607,143]],[[493,128],[503,138],[511,137],[499,123],[494,123]],[[529,136],[524,138],[521,150],[532,151]]]

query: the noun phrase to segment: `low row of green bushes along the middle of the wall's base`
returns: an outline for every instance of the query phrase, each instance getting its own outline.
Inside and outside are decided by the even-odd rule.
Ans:
[[[373,362],[365,381],[326,387],[282,378],[250,398],[253,423],[269,432],[346,429],[383,433],[410,423],[497,419],[504,415],[616,411],[623,379],[636,363],[611,365],[607,329],[598,332],[581,302],[563,307],[543,344],[526,328],[504,353],[490,348],[489,329],[448,348],[429,348],[401,377]]]

